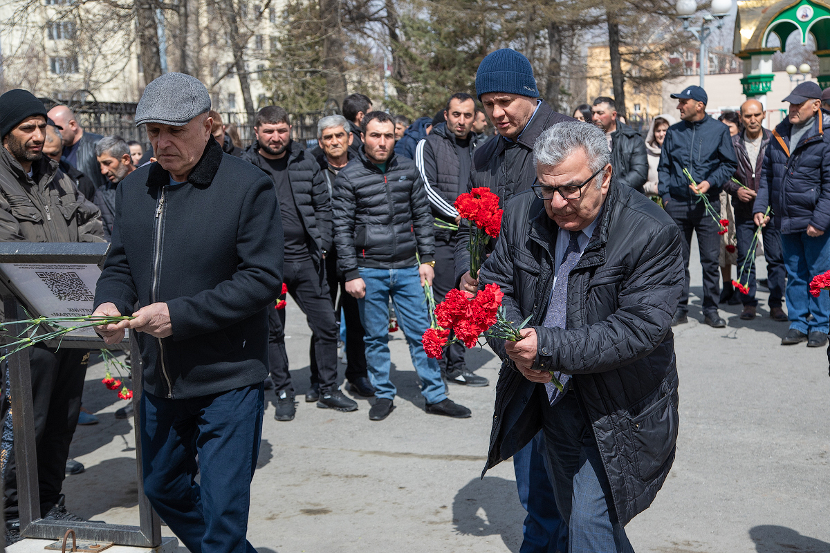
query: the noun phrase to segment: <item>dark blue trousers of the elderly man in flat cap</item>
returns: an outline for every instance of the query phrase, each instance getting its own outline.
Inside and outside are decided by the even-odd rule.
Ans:
[[[256,551],[246,534],[264,404],[261,384],[188,400],[142,395],[144,492],[188,551]]]

